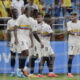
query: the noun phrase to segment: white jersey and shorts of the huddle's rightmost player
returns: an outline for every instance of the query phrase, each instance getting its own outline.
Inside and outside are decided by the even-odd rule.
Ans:
[[[54,54],[54,51],[50,46],[50,33],[53,33],[53,30],[48,24],[45,22],[38,24],[38,35],[44,45],[44,48],[41,49],[41,57],[49,57]]]

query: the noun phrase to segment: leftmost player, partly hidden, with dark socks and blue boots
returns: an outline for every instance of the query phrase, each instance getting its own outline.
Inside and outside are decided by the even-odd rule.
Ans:
[[[12,9],[12,18],[7,23],[7,45],[10,46],[10,52],[11,52],[11,68],[12,72],[10,76],[15,76],[15,58],[16,58],[16,45],[14,44],[15,38],[14,38],[14,26],[18,18],[18,11],[17,9]],[[11,44],[9,44],[9,38],[11,35]]]

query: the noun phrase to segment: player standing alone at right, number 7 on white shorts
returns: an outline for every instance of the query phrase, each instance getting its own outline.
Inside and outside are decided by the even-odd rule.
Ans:
[[[75,55],[80,54],[80,20],[77,20],[77,13],[71,12],[70,19],[67,23],[69,33],[69,60],[68,60],[68,77],[73,77],[71,73],[72,61]]]

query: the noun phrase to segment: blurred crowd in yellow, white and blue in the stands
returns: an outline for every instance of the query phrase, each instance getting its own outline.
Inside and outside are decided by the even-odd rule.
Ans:
[[[26,6],[37,9],[44,16],[48,13],[52,17],[69,15],[74,8],[80,12],[80,0],[0,0],[0,17],[11,17],[12,8],[16,8],[21,15]],[[54,21],[55,24],[59,22],[56,19]]]

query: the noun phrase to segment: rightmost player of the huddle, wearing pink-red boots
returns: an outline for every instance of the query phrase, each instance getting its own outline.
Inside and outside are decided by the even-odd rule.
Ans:
[[[38,21],[38,31],[39,37],[44,45],[44,48],[41,49],[41,61],[40,61],[40,69],[39,69],[39,74],[38,76],[40,77],[45,77],[44,75],[41,76],[43,66],[45,61],[47,61],[47,65],[49,67],[49,77],[58,77],[55,73],[53,73],[53,64],[54,64],[54,52],[50,46],[50,37],[53,35],[53,31],[50,27],[49,24],[45,23],[43,21],[43,15],[42,13],[38,13],[37,16],[37,21]],[[50,59],[49,59],[50,57]]]

